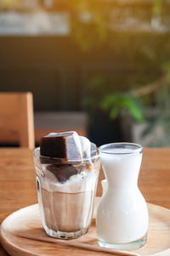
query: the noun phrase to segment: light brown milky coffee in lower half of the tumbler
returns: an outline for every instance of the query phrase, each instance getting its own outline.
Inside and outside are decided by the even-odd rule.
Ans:
[[[42,212],[48,229],[75,232],[90,225],[94,191],[64,193],[41,189]]]

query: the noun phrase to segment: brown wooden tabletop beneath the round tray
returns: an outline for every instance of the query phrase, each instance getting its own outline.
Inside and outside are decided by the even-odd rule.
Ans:
[[[100,174],[99,179],[104,179]],[[170,208],[170,148],[144,149],[139,189],[147,202]],[[99,182],[98,196],[101,195]],[[37,203],[32,152],[0,149],[0,223],[17,209]],[[0,256],[8,255],[0,246]]]

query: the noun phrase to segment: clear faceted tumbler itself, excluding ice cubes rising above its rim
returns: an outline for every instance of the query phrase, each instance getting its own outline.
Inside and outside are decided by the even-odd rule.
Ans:
[[[82,159],[40,156],[34,151],[42,225],[49,236],[68,239],[88,232],[99,176],[99,152]]]

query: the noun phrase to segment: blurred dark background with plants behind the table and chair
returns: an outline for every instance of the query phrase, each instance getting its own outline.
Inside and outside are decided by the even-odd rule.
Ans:
[[[0,91],[31,91],[38,145],[170,145],[168,0],[0,0]]]

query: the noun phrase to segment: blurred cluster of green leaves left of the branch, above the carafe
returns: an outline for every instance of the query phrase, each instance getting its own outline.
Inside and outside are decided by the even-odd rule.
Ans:
[[[133,95],[133,90],[117,91],[114,82],[109,82],[100,76],[93,77],[88,84],[88,97],[83,100],[83,105],[91,111],[102,110],[109,113],[111,119],[116,119],[126,111],[137,122],[143,122],[142,102]]]

